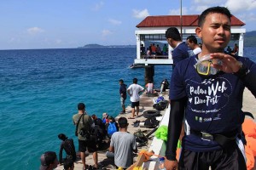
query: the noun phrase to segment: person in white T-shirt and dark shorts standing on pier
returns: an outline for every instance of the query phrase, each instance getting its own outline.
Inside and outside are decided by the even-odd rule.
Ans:
[[[128,119],[134,119],[135,116],[135,107],[137,109],[137,116],[139,114],[139,105],[140,105],[140,92],[143,92],[144,88],[137,84],[137,78],[133,78],[133,84],[127,88],[128,94],[131,96],[131,117]]]

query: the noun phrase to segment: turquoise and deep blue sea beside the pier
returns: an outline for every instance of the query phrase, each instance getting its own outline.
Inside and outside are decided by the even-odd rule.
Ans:
[[[72,116],[79,102],[90,115],[117,116],[119,79],[144,83],[143,68],[128,68],[135,56],[136,48],[0,51],[1,169],[38,169],[44,151],[58,153],[58,133],[75,139]],[[155,66],[155,84],[169,79],[171,70]]]

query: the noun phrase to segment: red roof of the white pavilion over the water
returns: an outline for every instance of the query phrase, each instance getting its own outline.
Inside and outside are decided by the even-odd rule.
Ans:
[[[198,26],[199,14],[183,15],[182,26]],[[180,26],[180,15],[159,15],[148,16],[136,27],[162,27],[162,26]],[[231,16],[231,26],[245,26],[236,16]]]

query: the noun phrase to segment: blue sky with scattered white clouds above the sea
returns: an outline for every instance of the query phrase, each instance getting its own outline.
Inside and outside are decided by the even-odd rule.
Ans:
[[[212,3],[214,2],[214,3]],[[255,0],[183,0],[183,14],[230,8],[256,31]],[[136,26],[148,15],[179,14],[180,0],[8,0],[0,2],[0,49],[77,48],[88,43],[136,44]]]

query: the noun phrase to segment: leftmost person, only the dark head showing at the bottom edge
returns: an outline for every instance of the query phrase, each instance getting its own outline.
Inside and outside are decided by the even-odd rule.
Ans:
[[[40,170],[53,170],[58,167],[59,161],[54,151],[46,151],[40,157]]]

